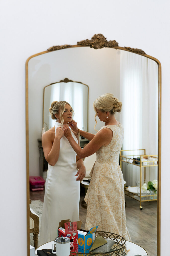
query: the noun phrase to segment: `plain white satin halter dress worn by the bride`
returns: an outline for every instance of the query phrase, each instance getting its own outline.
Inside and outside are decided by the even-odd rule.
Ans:
[[[62,124],[55,124],[55,131]],[[74,140],[77,138],[71,131]],[[40,245],[53,241],[61,220],[79,220],[80,181],[76,181],[76,153],[65,136],[55,166],[48,165],[42,211]]]

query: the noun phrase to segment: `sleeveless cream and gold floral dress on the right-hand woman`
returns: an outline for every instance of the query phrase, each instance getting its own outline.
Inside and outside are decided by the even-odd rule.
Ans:
[[[119,166],[124,129],[121,123],[101,127],[104,128],[111,129],[113,137],[108,146],[102,146],[96,152],[96,162],[90,172],[91,180],[85,196],[85,230],[99,225],[98,230],[116,233],[131,241],[126,227],[124,180]]]

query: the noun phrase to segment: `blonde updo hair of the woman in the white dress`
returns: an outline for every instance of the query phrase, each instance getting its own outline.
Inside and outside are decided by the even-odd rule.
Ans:
[[[49,112],[51,114],[51,118],[53,120],[57,120],[57,118],[55,117],[55,114],[58,115],[60,121],[61,121],[61,124],[63,124],[64,120],[63,120],[63,113],[66,109],[66,104],[68,104],[70,106],[70,104],[67,102],[67,101],[53,101],[51,103],[51,107],[49,108]],[[72,107],[70,106],[70,108],[72,109]],[[73,109],[72,109],[73,110]],[[73,115],[74,115],[74,111],[73,111]],[[72,117],[73,117],[72,115]]]

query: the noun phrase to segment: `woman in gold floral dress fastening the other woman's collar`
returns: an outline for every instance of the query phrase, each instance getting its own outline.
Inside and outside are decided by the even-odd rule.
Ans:
[[[121,111],[122,103],[113,94],[106,93],[95,100],[93,107],[96,112],[95,120],[98,115],[100,121],[105,122],[96,135],[80,131],[73,121],[69,124],[77,134],[90,140],[83,149],[75,143],[70,128],[63,126],[64,135],[79,157],[87,157],[95,152],[97,155],[85,196],[85,229],[99,225],[99,230],[119,234],[131,241],[126,228],[124,181],[119,166],[124,129],[115,118],[115,112]]]

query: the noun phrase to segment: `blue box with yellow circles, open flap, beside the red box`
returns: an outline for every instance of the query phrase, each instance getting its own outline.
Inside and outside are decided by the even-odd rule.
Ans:
[[[87,251],[91,248],[94,240],[95,240],[95,232],[97,230],[98,226],[91,228],[89,231],[86,230],[77,230],[79,234],[79,250]],[[86,252],[87,253],[87,252]]]

